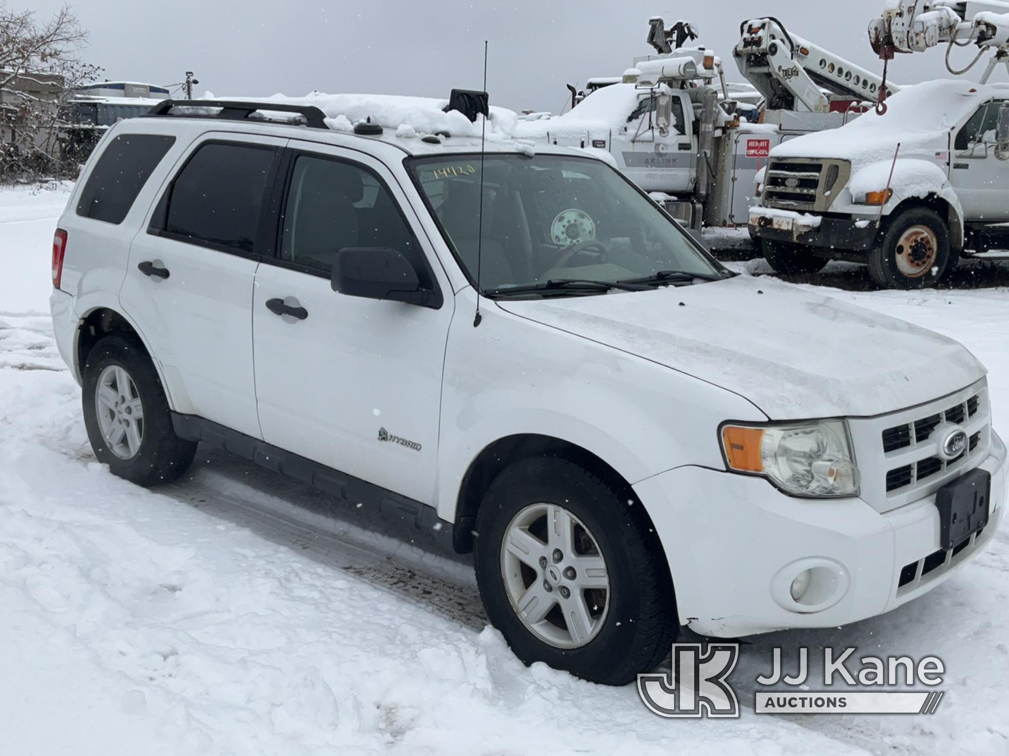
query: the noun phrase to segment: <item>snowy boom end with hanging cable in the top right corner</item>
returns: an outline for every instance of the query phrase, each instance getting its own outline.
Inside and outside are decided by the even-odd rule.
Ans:
[[[946,68],[954,75],[966,74],[994,49],[996,54],[981,80],[986,84],[998,64],[1009,64],[1009,2],[887,0],[883,13],[869,24],[869,40],[884,60],[897,52],[923,52],[946,44]],[[972,43],[979,48],[977,56],[966,69],[954,70],[949,62],[952,48]]]

